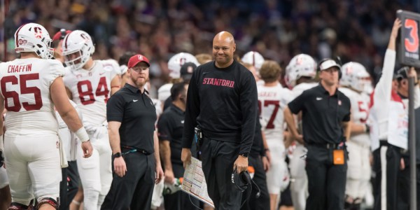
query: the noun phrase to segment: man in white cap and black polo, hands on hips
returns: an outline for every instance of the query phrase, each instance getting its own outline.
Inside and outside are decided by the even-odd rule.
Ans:
[[[288,104],[284,118],[293,136],[307,146],[309,197],[306,209],[344,209],[349,138],[350,100],[339,92],[340,66],[333,59],[319,64],[318,86]],[[302,111],[303,141],[292,113]]]

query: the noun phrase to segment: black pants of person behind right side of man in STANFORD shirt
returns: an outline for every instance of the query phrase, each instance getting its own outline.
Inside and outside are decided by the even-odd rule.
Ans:
[[[269,209],[269,194],[267,188],[267,176],[265,176],[264,166],[260,156],[249,156],[248,165],[255,169],[253,181],[260,188],[260,197],[255,196],[258,189],[252,186],[251,195],[248,195],[249,190],[245,190],[242,194],[242,203],[246,200],[242,210],[266,210]],[[249,188],[249,187],[248,187]]]

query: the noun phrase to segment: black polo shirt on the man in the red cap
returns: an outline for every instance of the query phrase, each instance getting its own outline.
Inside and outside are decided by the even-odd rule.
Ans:
[[[106,103],[108,122],[117,121],[120,126],[120,145],[154,153],[156,109],[152,99],[137,87],[125,84]]]

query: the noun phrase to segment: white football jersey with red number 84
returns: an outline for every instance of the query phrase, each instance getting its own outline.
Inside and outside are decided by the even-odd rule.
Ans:
[[[111,97],[111,80],[120,66],[109,60],[95,60],[90,71],[66,68],[64,85],[83,115],[83,125],[98,126],[106,121],[106,102]]]

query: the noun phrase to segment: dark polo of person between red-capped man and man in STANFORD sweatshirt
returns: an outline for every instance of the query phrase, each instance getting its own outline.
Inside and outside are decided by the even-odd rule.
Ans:
[[[182,165],[182,134],[185,112],[174,104],[170,104],[158,121],[158,137],[160,141],[169,141],[172,164]]]

